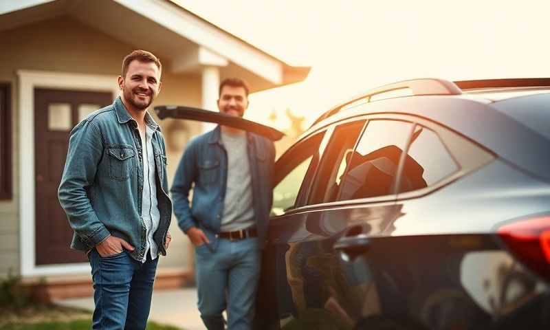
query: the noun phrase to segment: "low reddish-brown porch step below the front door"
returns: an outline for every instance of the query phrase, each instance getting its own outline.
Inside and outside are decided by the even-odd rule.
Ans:
[[[155,277],[155,290],[177,289],[192,285],[192,271],[185,268],[159,268]],[[65,298],[83,298],[94,295],[91,275],[47,276],[23,278],[33,298],[43,303]]]

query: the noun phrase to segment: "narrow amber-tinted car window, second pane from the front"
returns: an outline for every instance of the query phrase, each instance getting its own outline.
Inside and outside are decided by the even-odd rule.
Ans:
[[[336,126],[322,157],[309,204],[336,201],[342,175],[364,124],[365,120],[360,120]]]

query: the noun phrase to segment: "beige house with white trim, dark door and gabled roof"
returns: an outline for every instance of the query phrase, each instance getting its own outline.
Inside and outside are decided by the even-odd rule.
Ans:
[[[216,109],[218,85],[245,78],[252,91],[305,79],[292,67],[167,0],[21,0],[0,3],[0,277],[41,281],[54,297],[91,293],[89,264],[57,200],[69,131],[118,96],[122,58],[159,56],[153,103]],[[197,122],[162,120],[168,181]],[[192,278],[188,239],[175,219],[157,285]]]

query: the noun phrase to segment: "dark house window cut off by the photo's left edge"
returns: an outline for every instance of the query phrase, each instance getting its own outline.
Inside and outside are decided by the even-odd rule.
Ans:
[[[0,199],[12,198],[12,113],[10,85],[0,84]]]

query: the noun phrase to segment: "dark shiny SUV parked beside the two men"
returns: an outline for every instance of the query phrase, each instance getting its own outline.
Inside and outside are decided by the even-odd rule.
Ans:
[[[276,164],[260,329],[550,329],[550,79],[409,80]]]

